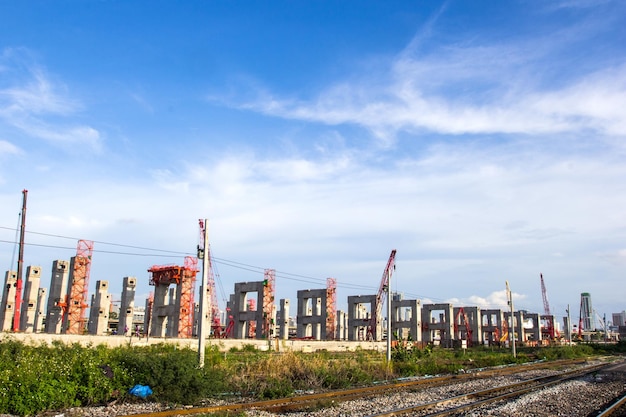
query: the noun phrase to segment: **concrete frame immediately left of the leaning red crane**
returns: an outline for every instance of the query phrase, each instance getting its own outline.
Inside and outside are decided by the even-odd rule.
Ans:
[[[382,319],[376,315],[376,295],[348,297],[348,340],[382,340]]]

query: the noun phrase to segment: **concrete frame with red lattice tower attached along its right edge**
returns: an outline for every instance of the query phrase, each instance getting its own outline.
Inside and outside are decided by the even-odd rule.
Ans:
[[[334,339],[335,335],[329,335],[326,331],[327,302],[325,288],[298,291],[298,314],[296,316],[296,335],[298,338]]]

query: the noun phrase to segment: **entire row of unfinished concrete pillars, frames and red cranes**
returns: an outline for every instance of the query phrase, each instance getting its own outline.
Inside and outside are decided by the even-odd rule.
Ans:
[[[24,211],[26,190],[24,191]],[[22,216],[24,221],[25,216]],[[200,230],[206,225],[201,220]],[[21,235],[23,241],[24,223]],[[182,265],[147,268],[154,287],[146,300],[135,300],[136,277],[123,277],[118,306],[114,306],[109,282],[99,280],[89,297],[89,275],[94,242],[79,240],[76,255],[52,262],[50,286],[41,286],[41,266],[28,266],[22,278],[23,244],[17,271],[6,271],[0,304],[0,330],[25,334],[129,335],[150,338],[207,338],[237,340],[372,341],[394,340],[443,347],[472,345],[542,345],[583,340],[595,331],[591,298],[581,295],[577,332],[570,317],[563,325],[550,312],[543,274],[540,274],[543,314],[513,309],[481,309],[451,303],[424,304],[390,294],[396,250],[392,250],[379,281],[378,291],[347,297],[347,310],[337,309],[337,280],[327,278],[326,287],[297,291],[290,299],[276,300],[275,270],[266,269],[263,279],[237,282],[224,308],[220,308],[208,242],[198,246],[196,257]],[[198,287],[199,259],[203,285]],[[204,295],[204,299],[201,300]],[[137,304],[136,301],[139,301]],[[204,303],[204,306],[203,306]],[[383,308],[385,303],[387,309]],[[201,307],[206,313],[201,314]],[[142,310],[143,314],[136,314]],[[114,313],[114,314],[112,314]],[[115,316],[115,317],[113,317]],[[138,318],[139,317],[139,318]],[[560,329],[565,329],[561,331]],[[605,326],[605,336],[608,334]]]

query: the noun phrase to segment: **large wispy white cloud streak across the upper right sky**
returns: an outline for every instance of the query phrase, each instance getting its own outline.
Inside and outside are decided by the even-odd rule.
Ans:
[[[412,41],[376,78],[355,74],[354,81],[331,85],[310,100],[265,91],[239,106],[276,117],[358,125],[387,142],[398,132],[626,135],[626,114],[620,111],[626,108],[624,60],[609,68],[587,65],[557,82],[551,78],[554,68],[544,71],[546,60],[576,48],[581,37],[562,32],[551,40],[460,41],[429,53]]]

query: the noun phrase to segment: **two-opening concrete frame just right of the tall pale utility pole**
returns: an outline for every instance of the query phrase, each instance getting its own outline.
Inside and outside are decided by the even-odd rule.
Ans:
[[[235,293],[231,296],[230,313],[233,316],[233,337],[236,339],[263,338],[263,299],[264,282],[238,282],[235,284]],[[256,293],[255,309],[251,309],[248,295]],[[275,321],[274,321],[275,322]]]

